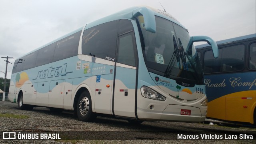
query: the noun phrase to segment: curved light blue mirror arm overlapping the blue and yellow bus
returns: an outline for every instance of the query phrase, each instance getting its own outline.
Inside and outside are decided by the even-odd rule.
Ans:
[[[216,44],[216,42],[214,40],[212,40],[212,38],[208,37],[208,36],[191,36],[190,37],[190,41],[189,41],[189,46],[192,46],[193,42],[207,42],[208,44],[210,44],[212,46],[212,52],[213,52],[213,56],[214,58],[218,58],[219,57],[219,50],[218,50],[218,46]]]

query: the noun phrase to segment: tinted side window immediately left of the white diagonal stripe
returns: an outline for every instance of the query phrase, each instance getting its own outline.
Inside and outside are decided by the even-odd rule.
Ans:
[[[69,58],[76,56],[78,54],[78,44],[81,36],[81,32],[76,32],[71,36],[63,38],[56,43],[56,48],[54,51],[53,61],[63,60],[64,58]]]

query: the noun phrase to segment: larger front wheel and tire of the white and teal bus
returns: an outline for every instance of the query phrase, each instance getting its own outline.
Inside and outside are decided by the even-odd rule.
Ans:
[[[78,119],[84,122],[92,122],[96,118],[96,114],[92,112],[92,100],[88,91],[80,94],[76,104],[76,113]]]

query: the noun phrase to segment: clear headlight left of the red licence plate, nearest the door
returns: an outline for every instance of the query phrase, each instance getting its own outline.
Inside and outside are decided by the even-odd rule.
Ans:
[[[152,90],[147,86],[142,86],[140,90],[141,90],[141,95],[145,98],[150,98],[153,100],[162,100],[162,101],[166,100],[164,96],[162,96],[161,94],[159,94],[158,92]]]

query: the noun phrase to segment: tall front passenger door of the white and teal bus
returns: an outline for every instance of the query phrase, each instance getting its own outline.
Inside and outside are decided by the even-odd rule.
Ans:
[[[137,52],[133,32],[118,37],[113,112],[135,118]]]

